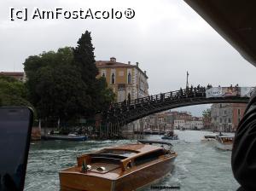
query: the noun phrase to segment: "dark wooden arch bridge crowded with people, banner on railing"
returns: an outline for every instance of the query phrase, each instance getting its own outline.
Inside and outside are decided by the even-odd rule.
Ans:
[[[113,103],[102,113],[102,122],[107,128],[118,132],[120,127],[150,114],[172,108],[209,103],[247,103],[253,91],[251,87],[195,87],[131,101]]]

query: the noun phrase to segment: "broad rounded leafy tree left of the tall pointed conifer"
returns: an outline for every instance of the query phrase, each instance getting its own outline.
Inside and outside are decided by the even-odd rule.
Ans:
[[[72,63],[73,49],[68,47],[26,59],[26,86],[40,118],[69,120],[84,115],[90,98]]]

